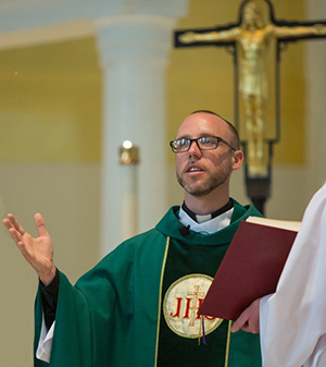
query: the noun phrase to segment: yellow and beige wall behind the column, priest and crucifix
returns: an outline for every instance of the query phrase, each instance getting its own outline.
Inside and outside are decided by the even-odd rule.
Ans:
[[[177,28],[236,22],[239,0],[192,0]],[[304,2],[273,1],[278,19],[304,20]],[[267,216],[301,219],[312,192],[305,180],[303,42],[281,63],[281,140],[275,147],[273,196]],[[0,52],[0,207],[35,233],[40,211],[55,246],[55,261],[72,282],[98,260],[101,163],[101,70],[96,40],[85,38]],[[233,120],[233,61],[224,49],[172,50],[166,71],[167,139],[192,110],[212,109]],[[170,205],[181,200],[170,162]],[[286,180],[285,180],[286,178]],[[318,183],[316,183],[318,185]],[[243,172],[231,194],[248,203]],[[109,223],[108,223],[109,225]],[[33,302],[37,279],[4,230],[0,282],[5,367],[33,366]],[[11,357],[12,356],[12,357]]]

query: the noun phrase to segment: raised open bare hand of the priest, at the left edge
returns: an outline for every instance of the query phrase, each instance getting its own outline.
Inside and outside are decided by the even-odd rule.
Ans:
[[[9,213],[8,218],[3,219],[3,223],[22,255],[38,273],[40,281],[48,285],[55,276],[53,245],[42,216],[36,213],[34,220],[38,231],[36,238],[25,232],[13,215]]]

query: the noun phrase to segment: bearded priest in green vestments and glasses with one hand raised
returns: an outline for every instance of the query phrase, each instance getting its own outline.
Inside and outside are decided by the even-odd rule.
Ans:
[[[196,111],[170,143],[184,201],[72,285],[53,261],[41,215],[32,237],[3,220],[39,277],[35,367],[260,367],[259,335],[197,311],[241,220],[261,216],[229,197],[243,152],[225,119]],[[112,229],[114,230],[114,229]],[[204,338],[202,326],[204,323]]]

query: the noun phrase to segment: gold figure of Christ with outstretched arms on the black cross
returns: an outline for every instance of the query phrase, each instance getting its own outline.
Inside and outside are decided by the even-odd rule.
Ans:
[[[178,37],[183,44],[235,41],[239,59],[239,93],[247,131],[248,170],[251,176],[265,176],[264,121],[267,105],[267,53],[273,39],[322,36],[326,26],[277,26],[264,24],[259,5],[250,1],[243,8],[240,26],[226,30],[187,32]]]

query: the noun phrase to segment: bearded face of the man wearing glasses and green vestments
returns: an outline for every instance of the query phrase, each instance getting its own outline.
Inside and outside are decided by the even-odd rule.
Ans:
[[[199,112],[188,117],[176,138],[220,136],[231,144],[230,127],[216,115]],[[200,150],[195,142],[190,149],[176,154],[178,183],[192,196],[205,196],[216,187],[228,185],[234,164],[234,150],[220,143],[213,150]]]

